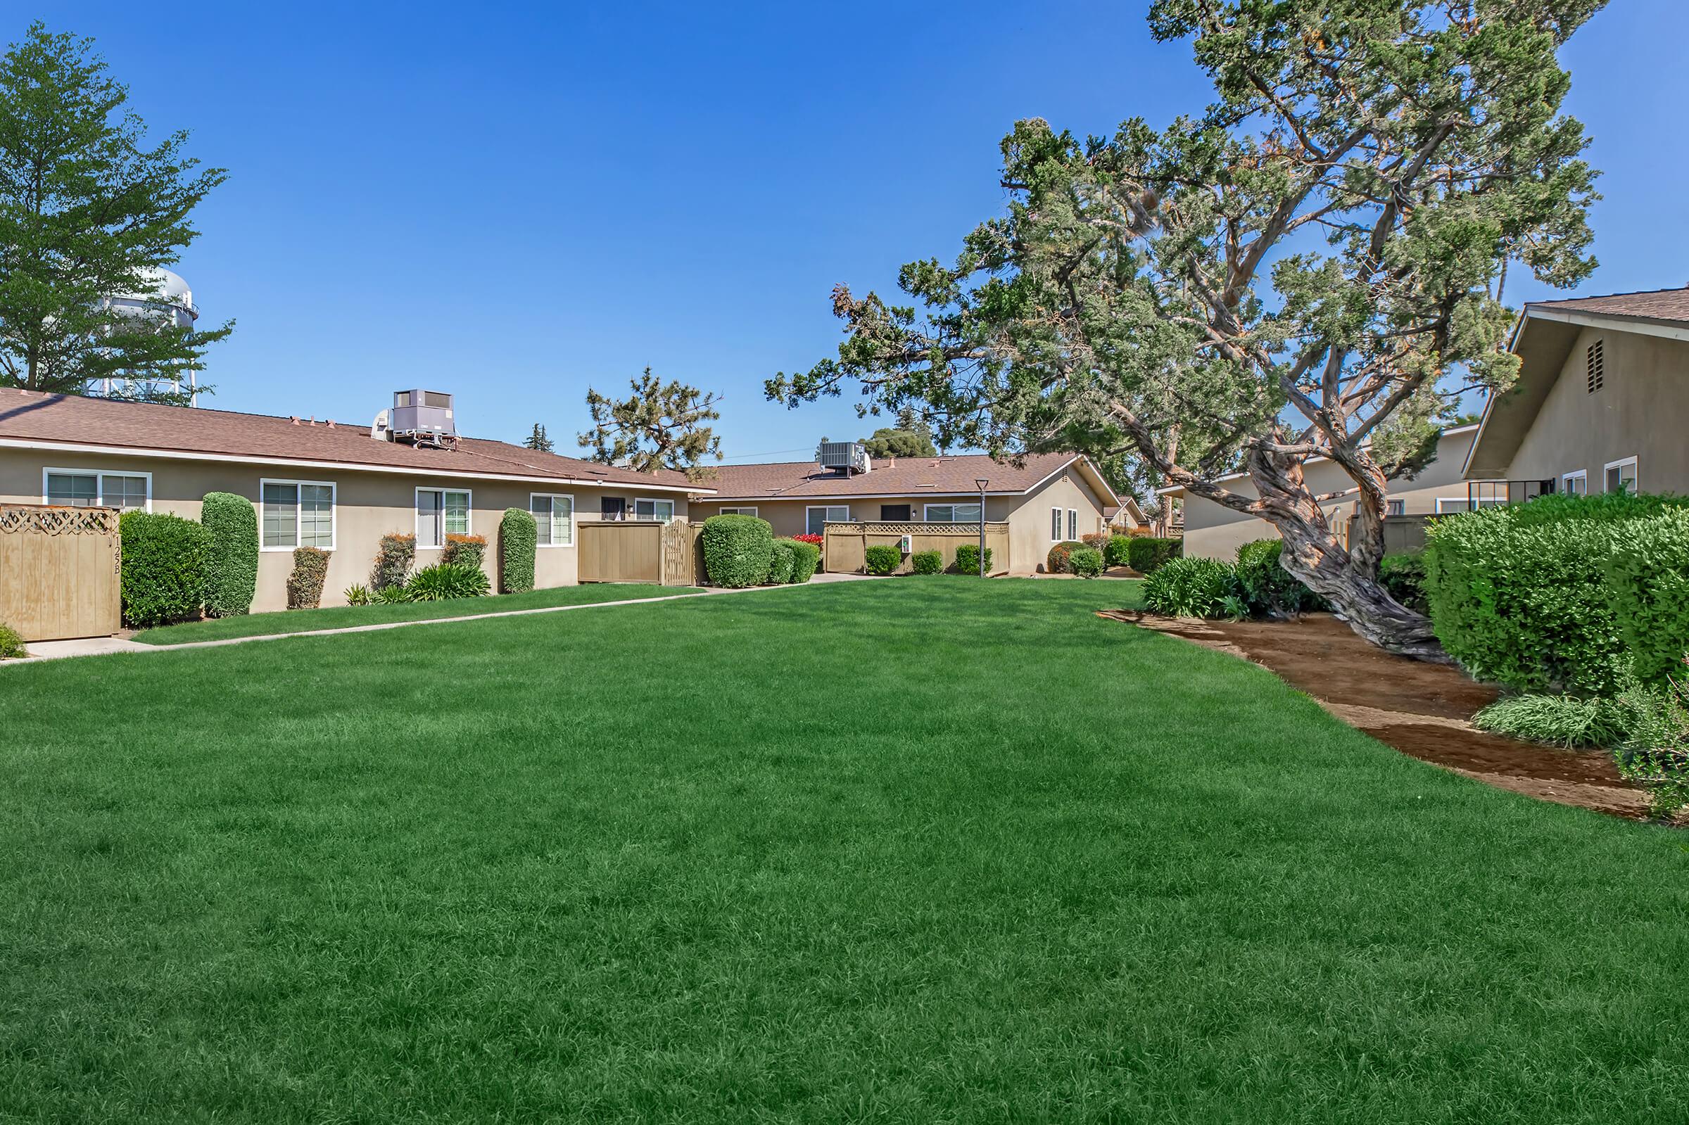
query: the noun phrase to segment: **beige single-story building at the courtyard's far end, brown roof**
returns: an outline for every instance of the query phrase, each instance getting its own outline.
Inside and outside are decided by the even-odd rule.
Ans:
[[[978,524],[985,481],[985,520],[1008,524],[1008,571],[1032,574],[1052,544],[1106,530],[1106,508],[1121,507],[1096,465],[1076,453],[1032,453],[1020,465],[983,453],[863,465],[723,465],[708,478],[714,495],[692,497],[692,520],[757,515],[775,535],[819,535],[829,522]]]

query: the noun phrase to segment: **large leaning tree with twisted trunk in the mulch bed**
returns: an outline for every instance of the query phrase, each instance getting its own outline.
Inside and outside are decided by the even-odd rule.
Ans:
[[[1353,628],[1442,659],[1378,581],[1387,483],[1453,399],[1508,387],[1508,262],[1588,275],[1594,172],[1557,49],[1601,0],[1155,0],[1214,101],[1164,130],[1003,140],[1008,213],[909,306],[839,287],[834,360],[789,404],[860,382],[939,441],[1132,451],[1159,481],[1274,524],[1284,566]],[[1350,486],[1316,495],[1311,458]],[[1253,485],[1223,478],[1241,470]],[[1353,537],[1321,505],[1353,498]],[[1346,520],[1344,520],[1346,522]]]

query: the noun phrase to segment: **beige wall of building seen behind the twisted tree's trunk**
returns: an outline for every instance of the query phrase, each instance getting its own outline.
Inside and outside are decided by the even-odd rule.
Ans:
[[[1437,458],[1414,480],[1397,480],[1390,485],[1390,498],[1405,502],[1404,515],[1436,515],[1437,498],[1466,500],[1466,481],[1461,466],[1478,431],[1446,436],[1437,444]],[[1316,493],[1348,490],[1355,481],[1331,461],[1314,461],[1306,466],[1307,486]],[[1255,495],[1248,478],[1226,481],[1226,488],[1245,497]],[[1355,514],[1355,500],[1334,500],[1322,505],[1326,517],[1338,520],[1341,529]],[[1228,507],[1184,497],[1184,554],[1203,559],[1235,559],[1238,547],[1255,539],[1272,539],[1279,530],[1267,520],[1233,512]]]

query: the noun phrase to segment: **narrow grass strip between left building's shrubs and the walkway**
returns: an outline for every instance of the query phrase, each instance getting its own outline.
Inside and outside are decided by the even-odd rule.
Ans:
[[[215,622],[184,622],[135,633],[144,645],[186,645],[193,640],[226,640],[228,637],[267,637],[270,633],[306,633],[312,628],[346,628],[382,622],[427,622],[437,617],[470,613],[505,613],[508,610],[544,610],[556,605],[591,605],[625,598],[667,598],[703,593],[696,586],[642,586],[595,583],[591,586],[556,586],[525,595],[458,598],[456,601],[405,601],[399,605],[343,605],[331,610],[289,610],[285,613],[248,613]]]

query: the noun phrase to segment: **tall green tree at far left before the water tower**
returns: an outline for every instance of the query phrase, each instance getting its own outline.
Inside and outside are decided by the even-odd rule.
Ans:
[[[155,270],[198,236],[191,211],[226,179],[182,152],[186,132],[149,147],[127,103],[90,39],[35,22],[0,57],[0,387],[177,382],[233,329],[108,301],[155,291]]]

